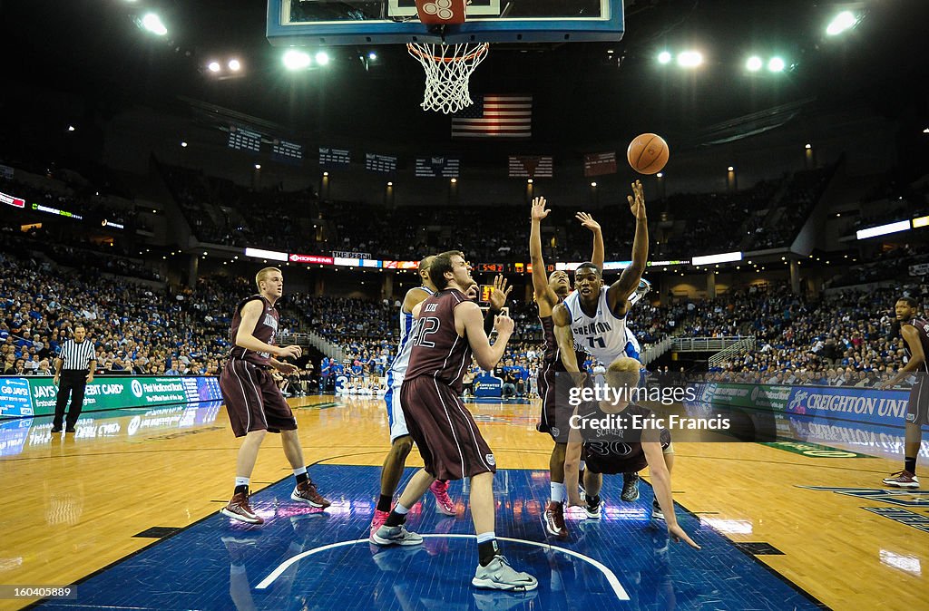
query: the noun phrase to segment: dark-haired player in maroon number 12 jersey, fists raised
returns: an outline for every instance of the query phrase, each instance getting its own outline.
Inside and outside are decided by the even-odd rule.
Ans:
[[[513,333],[513,320],[495,318],[497,341],[491,345],[480,308],[464,291],[474,284],[464,255],[439,254],[429,267],[438,293],[417,305],[416,333],[410,365],[400,388],[407,428],[425,467],[412,476],[384,526],[373,534],[378,545],[418,545],[423,538],[404,525],[407,513],[437,479],[471,478],[471,514],[478,533],[479,564],[471,583],[478,588],[535,590],[539,582],[514,570],[497,548],[494,528],[493,474],[496,461],[459,396],[462,377],[478,360],[493,370]]]

